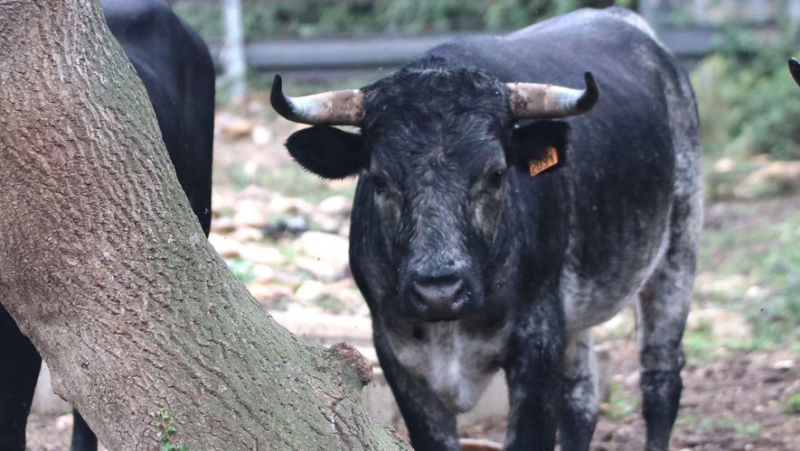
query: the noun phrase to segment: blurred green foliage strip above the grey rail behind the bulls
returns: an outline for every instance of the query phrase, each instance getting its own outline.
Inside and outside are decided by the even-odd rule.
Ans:
[[[245,37],[362,36],[375,33],[420,34],[503,31],[527,26],[597,0],[352,0],[246,2]],[[635,0],[617,1],[630,6]],[[217,4],[178,3],[176,11],[206,38],[223,35]]]

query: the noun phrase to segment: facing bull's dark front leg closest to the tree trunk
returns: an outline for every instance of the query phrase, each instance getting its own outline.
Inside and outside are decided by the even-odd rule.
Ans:
[[[411,445],[416,451],[458,451],[455,415],[425,381],[400,365],[380,329],[376,328],[374,335],[381,369],[403,415]]]

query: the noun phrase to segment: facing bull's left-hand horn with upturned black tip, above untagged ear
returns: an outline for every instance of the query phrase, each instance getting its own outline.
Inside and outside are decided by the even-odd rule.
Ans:
[[[358,125],[364,118],[364,93],[359,89],[328,91],[303,97],[283,94],[280,75],[272,82],[272,108],[294,122],[311,125]]]

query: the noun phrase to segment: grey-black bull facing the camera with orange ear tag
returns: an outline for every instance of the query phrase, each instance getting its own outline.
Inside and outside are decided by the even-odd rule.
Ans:
[[[584,70],[599,87],[585,114],[591,77],[527,98],[513,85],[583,86]],[[701,228],[698,118],[639,16],[581,10],[457,40],[360,90],[290,98],[276,77],[272,101],[316,125],[287,141],[300,164],[360,177],[350,264],[415,448],[457,449],[455,413],[503,368],[507,449],[552,449],[558,428],[563,449],[588,449],[590,328],[632,305],[647,446],[667,449]],[[361,130],[325,126],[338,124]]]

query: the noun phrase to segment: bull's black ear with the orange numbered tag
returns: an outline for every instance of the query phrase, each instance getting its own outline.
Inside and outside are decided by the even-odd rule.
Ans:
[[[567,162],[569,125],[537,121],[514,130],[511,159],[531,177],[564,167]]]

